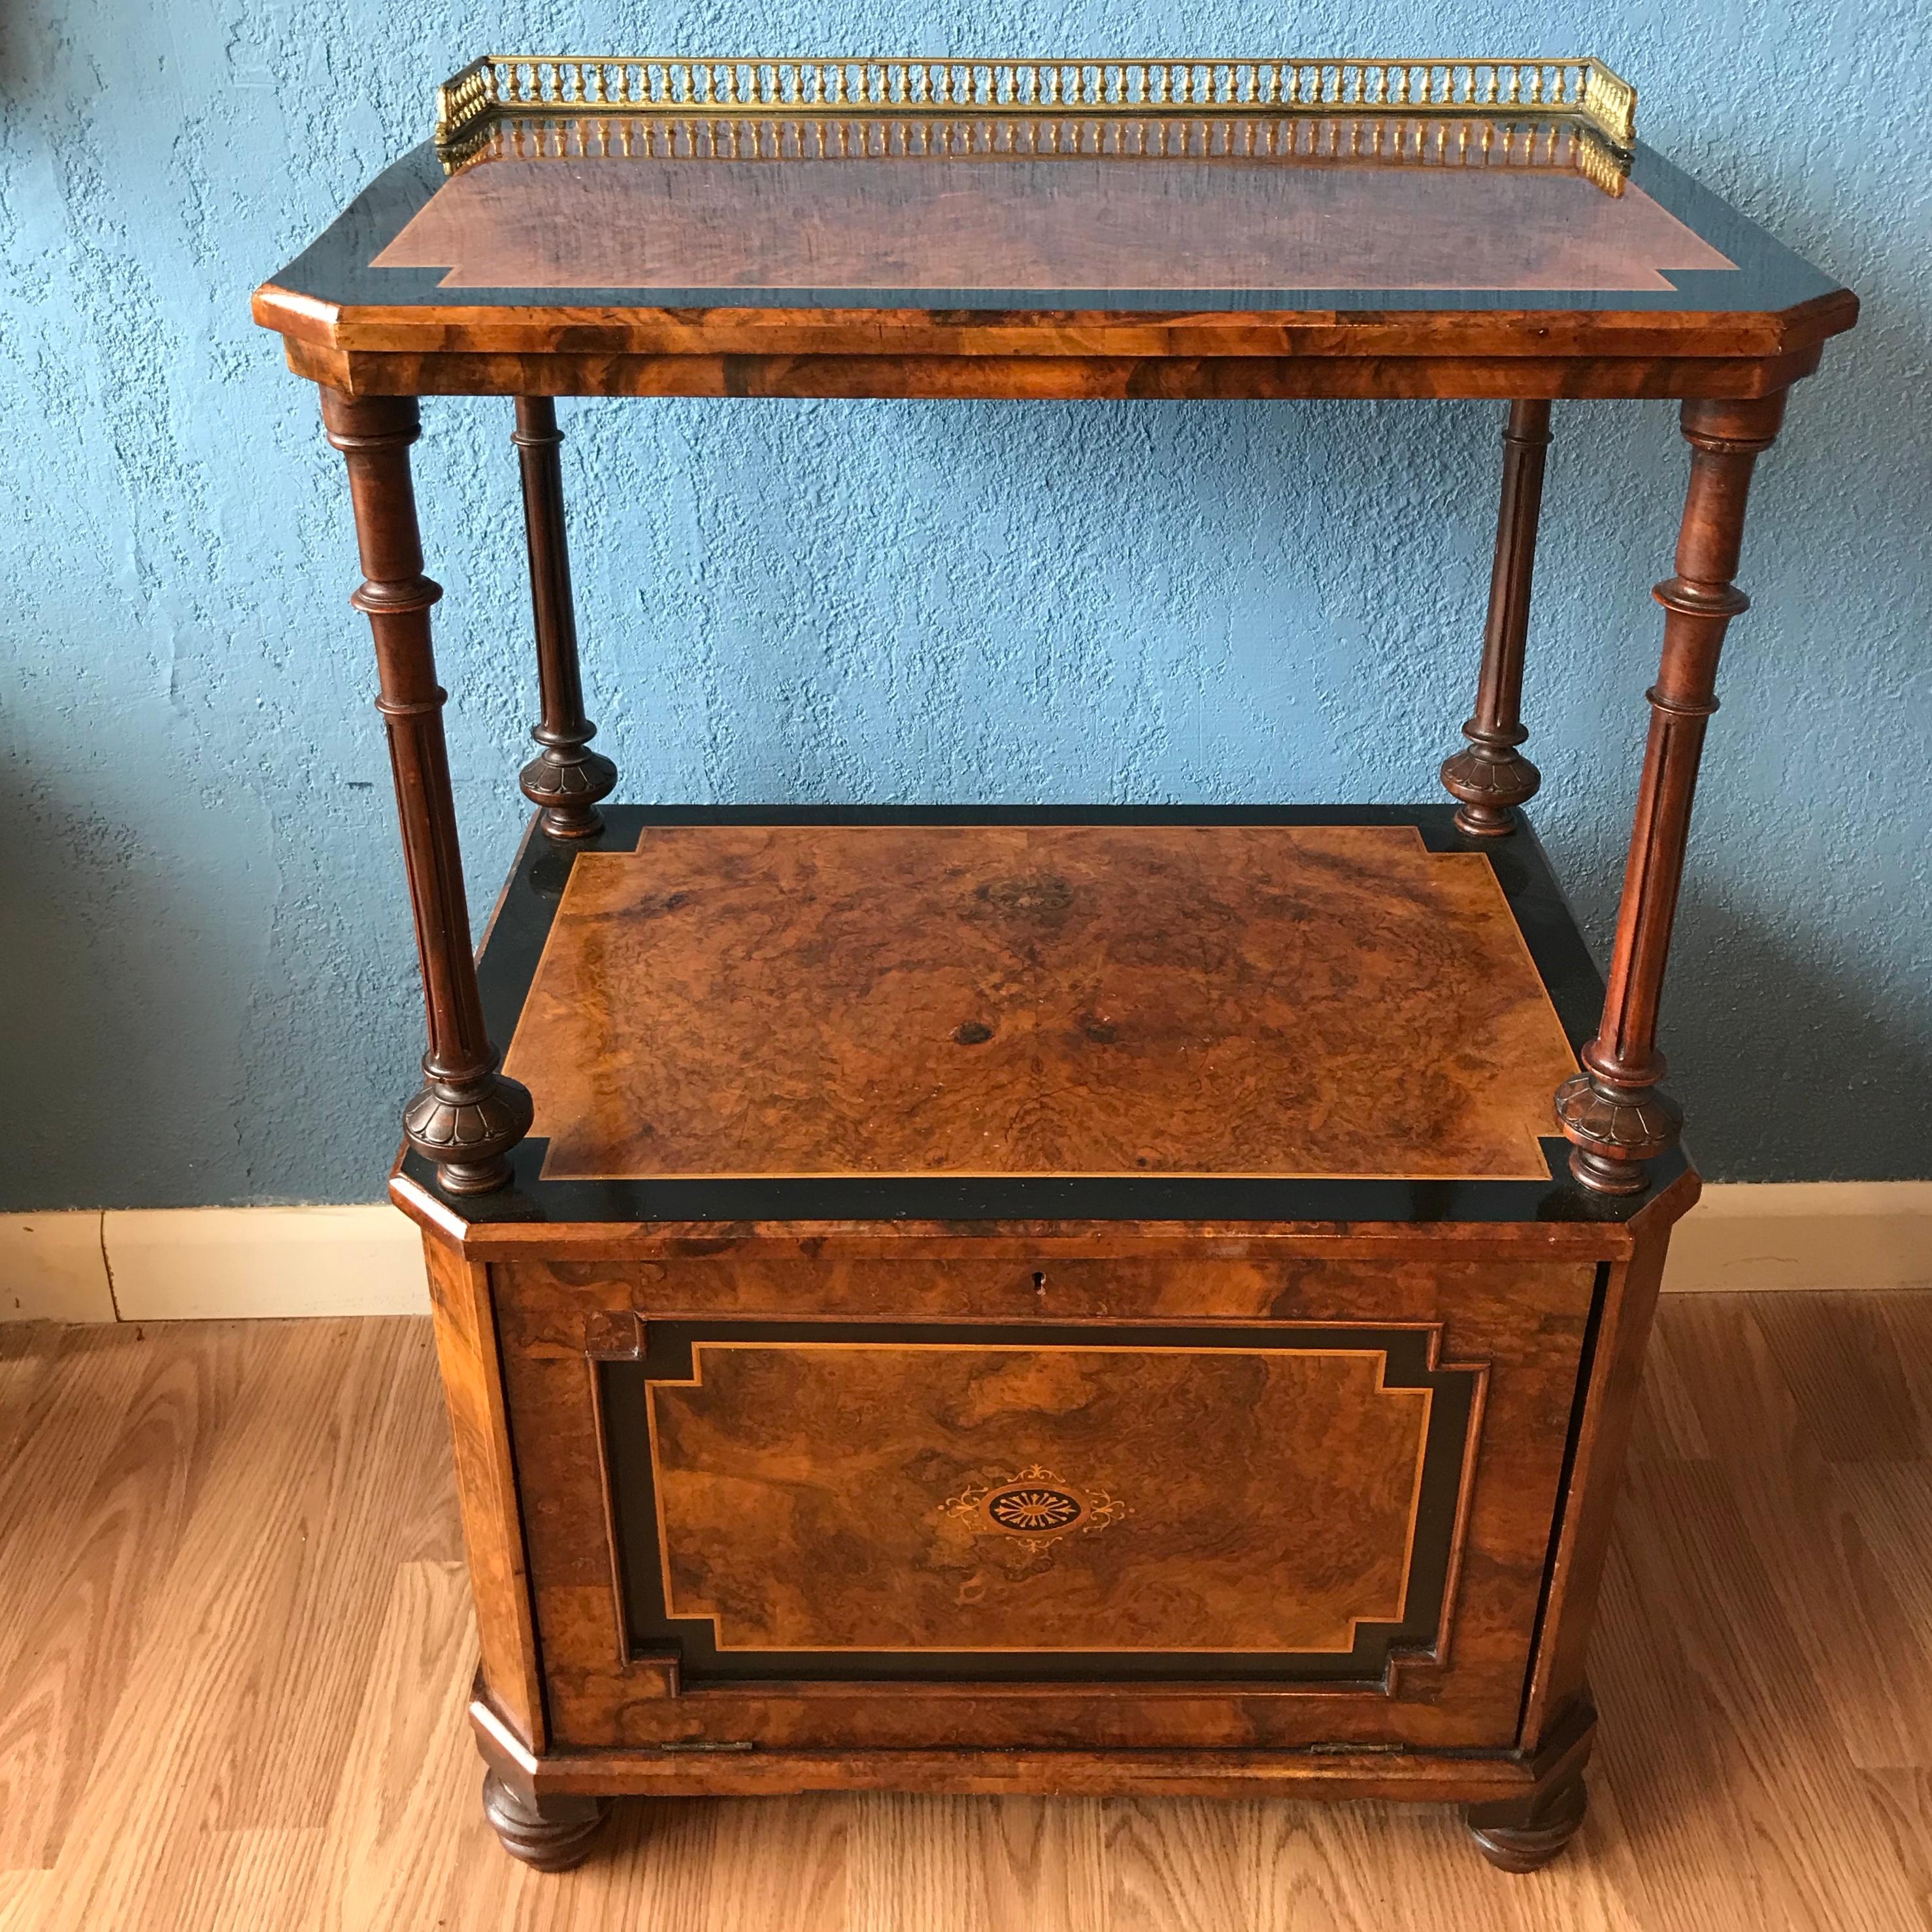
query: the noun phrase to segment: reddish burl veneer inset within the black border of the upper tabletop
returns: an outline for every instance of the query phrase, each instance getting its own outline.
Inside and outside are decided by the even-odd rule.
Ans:
[[[1640,187],[1236,160],[491,160],[377,257],[442,288],[1669,290],[1733,269]],[[663,298],[659,298],[663,299]]]

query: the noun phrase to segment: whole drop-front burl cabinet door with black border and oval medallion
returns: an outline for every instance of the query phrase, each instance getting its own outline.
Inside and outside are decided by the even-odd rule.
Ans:
[[[556,1748],[1517,1739],[1600,1265],[709,1246],[491,1269]]]

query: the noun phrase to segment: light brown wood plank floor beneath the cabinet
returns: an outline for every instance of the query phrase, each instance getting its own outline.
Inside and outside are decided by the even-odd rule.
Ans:
[[[429,1327],[0,1329],[0,1932],[1932,1928],[1932,1294],[1665,1298],[1592,1812],[840,1797],[497,1849]]]

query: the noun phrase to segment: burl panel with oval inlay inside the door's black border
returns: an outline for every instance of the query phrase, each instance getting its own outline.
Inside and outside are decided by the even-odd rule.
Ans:
[[[651,1385],[651,1461],[667,1609],[721,1648],[1347,1652],[1403,1621],[1432,1391],[1385,1356],[692,1352]]]

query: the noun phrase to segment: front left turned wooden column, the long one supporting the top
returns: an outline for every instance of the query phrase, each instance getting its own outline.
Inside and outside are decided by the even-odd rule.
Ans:
[[[529,1094],[497,1072],[483,1032],[456,802],[442,742],[444,692],[429,641],[442,587],[423,576],[423,545],[410,487],[410,444],[419,435],[413,396],[350,398],[323,390],[323,425],[342,450],[355,504],[363,585],[350,603],[369,618],[388,726],[388,759],[402,819],[402,858],[415,914],[415,952],[429,1009],[423,1088],[402,1113],[412,1148],[437,1163],[456,1194],[483,1194],[510,1179],[504,1155],[529,1132]]]

